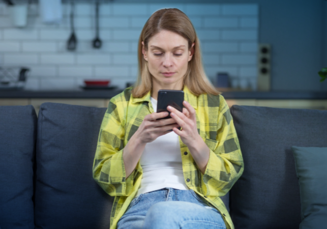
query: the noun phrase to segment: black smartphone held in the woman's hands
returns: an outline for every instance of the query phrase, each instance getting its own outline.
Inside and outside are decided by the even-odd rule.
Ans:
[[[172,106],[175,109],[183,112],[184,92],[180,90],[159,90],[158,91],[158,103],[157,113],[167,111],[168,116],[161,119],[170,119],[170,112],[167,110],[167,106]],[[159,120],[159,119],[158,119]],[[181,130],[181,127],[179,127]]]

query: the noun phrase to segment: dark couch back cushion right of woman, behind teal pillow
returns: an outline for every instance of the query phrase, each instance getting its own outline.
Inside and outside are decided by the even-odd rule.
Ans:
[[[245,167],[230,190],[235,228],[299,228],[291,146],[327,147],[327,111],[238,105],[230,110]]]

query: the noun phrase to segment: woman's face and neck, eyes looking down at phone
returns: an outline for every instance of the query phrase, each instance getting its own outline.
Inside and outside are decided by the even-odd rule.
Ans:
[[[181,90],[183,76],[194,53],[194,43],[188,50],[188,41],[173,32],[162,30],[148,41],[147,50],[142,42],[144,60],[152,75],[155,89]]]

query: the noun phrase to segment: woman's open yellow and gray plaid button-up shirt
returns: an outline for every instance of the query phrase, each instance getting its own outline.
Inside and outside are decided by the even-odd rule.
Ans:
[[[150,92],[142,98],[133,98],[131,88],[110,99],[103,118],[93,165],[93,177],[111,196],[110,229],[116,228],[136,195],[142,179],[138,162],[126,179],[123,149],[142,123],[144,117],[154,112]],[[185,183],[201,196],[204,202],[217,208],[227,228],[234,228],[220,196],[225,195],[240,178],[244,170],[239,139],[234,128],[229,107],[222,95],[193,95],[184,87],[184,100],[196,110],[197,129],[210,148],[209,162],[204,175],[198,169],[187,146],[180,138]],[[188,152],[184,155],[184,152]]]

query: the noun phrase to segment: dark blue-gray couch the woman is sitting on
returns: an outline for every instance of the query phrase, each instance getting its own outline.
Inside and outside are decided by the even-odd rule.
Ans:
[[[113,197],[92,178],[106,108],[0,107],[0,228],[109,228]],[[327,147],[327,111],[230,108],[245,170],[224,202],[236,229],[299,228],[291,146]],[[323,136],[324,135],[324,136]]]

